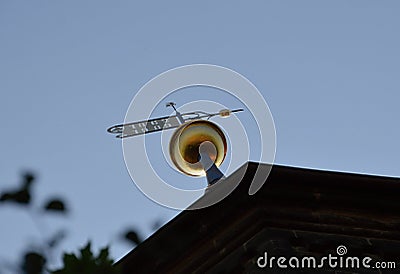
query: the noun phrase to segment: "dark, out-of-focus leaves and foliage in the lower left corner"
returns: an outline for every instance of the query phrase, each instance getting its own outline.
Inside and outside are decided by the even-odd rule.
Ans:
[[[11,191],[2,192],[0,195],[0,203],[13,203],[30,206],[32,203],[31,189],[34,182],[35,176],[33,173],[27,172],[23,174],[22,182],[20,184],[21,186]],[[65,214],[68,212],[68,208],[66,207],[64,200],[55,197],[47,199],[47,201],[43,203],[41,210],[42,212],[54,212],[57,214]],[[34,216],[34,220],[38,222],[40,221],[36,219],[36,216]],[[65,230],[59,230],[50,237],[46,237],[43,245],[38,249],[41,251],[27,251],[18,266],[11,265],[7,268],[15,268],[18,273],[24,274],[48,273],[45,272],[46,263],[50,258],[47,256],[51,254],[53,248],[56,247],[66,237],[66,234],[67,233]],[[138,236],[134,229],[127,230],[123,234],[123,239],[134,245],[138,245],[142,242],[142,239]],[[63,262],[63,268],[52,272],[53,274],[120,273],[118,268],[113,266],[113,260],[109,257],[108,247],[101,249],[98,256],[94,256],[91,251],[90,242],[80,250],[80,254],[78,256],[75,254],[64,254]],[[1,268],[2,267],[0,265],[0,273]]]

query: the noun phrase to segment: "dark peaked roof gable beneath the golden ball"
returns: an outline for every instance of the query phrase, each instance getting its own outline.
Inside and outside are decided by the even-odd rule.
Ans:
[[[227,198],[183,211],[128,253],[117,263],[123,273],[400,273],[400,179],[274,165],[250,196],[258,166],[270,168],[245,164],[196,203],[245,172]],[[395,262],[396,269],[257,265],[265,252],[321,258],[337,256],[340,245],[347,256]]]

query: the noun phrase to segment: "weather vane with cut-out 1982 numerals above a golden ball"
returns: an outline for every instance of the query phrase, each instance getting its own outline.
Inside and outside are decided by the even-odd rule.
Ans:
[[[218,169],[227,152],[226,137],[221,128],[209,120],[215,116],[229,117],[243,109],[222,109],[216,113],[193,111],[180,113],[174,102],[175,115],[115,125],[107,129],[117,138],[128,138],[176,128],[169,142],[169,154],[176,168],[190,176],[207,177],[208,185],[224,178]]]

